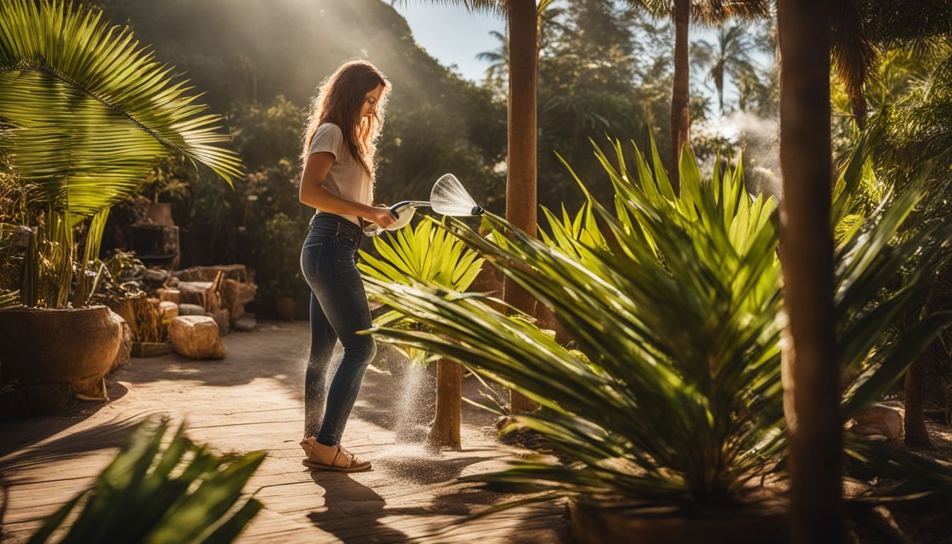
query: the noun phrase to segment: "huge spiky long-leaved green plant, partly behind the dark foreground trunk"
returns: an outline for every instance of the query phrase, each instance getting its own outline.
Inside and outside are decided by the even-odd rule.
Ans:
[[[651,162],[635,151],[631,173],[616,151],[617,161],[597,151],[615,187],[614,213],[589,199],[574,218],[549,214],[542,240],[497,216],[500,232],[489,239],[459,222],[449,227],[549,307],[578,353],[479,295],[369,281],[369,292],[429,330],[385,327],[378,336],[459,360],[542,405],[516,424],[544,434],[565,463],[528,459],[479,479],[550,492],[538,498],[701,507],[753,500],[764,478],[785,477],[776,206],[746,193],[740,167],[715,166],[703,179],[685,151],[675,195],[653,146]],[[852,211],[865,160],[861,148],[843,171],[836,223]],[[952,321],[931,315],[887,342],[915,284],[886,288],[903,270],[914,279],[929,265],[919,259],[927,234],[895,237],[918,198],[905,192],[854,221],[837,250],[847,417],[878,399]]]

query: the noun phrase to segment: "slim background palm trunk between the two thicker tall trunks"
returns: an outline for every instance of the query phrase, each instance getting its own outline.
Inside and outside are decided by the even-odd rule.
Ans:
[[[671,171],[668,172],[668,177],[675,192],[679,192],[681,186],[678,165],[681,162],[681,149],[689,141],[688,131],[691,126],[688,110],[691,67],[687,58],[690,16],[689,0],[674,0],[674,89],[671,91]]]

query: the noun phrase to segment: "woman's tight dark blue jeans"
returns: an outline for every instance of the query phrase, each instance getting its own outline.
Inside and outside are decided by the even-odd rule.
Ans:
[[[310,220],[301,250],[301,272],[310,286],[310,356],[304,391],[305,437],[327,446],[341,443],[367,365],[377,353],[370,328],[367,293],[357,270],[357,249],[364,232],[338,215],[320,213]],[[344,358],[327,388],[331,354],[340,339]],[[327,394],[325,394],[327,392]]]

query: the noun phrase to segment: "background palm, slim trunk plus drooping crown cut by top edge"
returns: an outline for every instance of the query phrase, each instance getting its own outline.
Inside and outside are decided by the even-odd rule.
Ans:
[[[688,63],[688,30],[691,24],[722,25],[734,17],[740,20],[764,18],[770,15],[767,0],[627,0],[635,8],[657,17],[671,17],[674,21],[674,89],[671,92],[671,182],[678,191],[678,165],[682,148],[689,141],[691,118],[690,65]]]

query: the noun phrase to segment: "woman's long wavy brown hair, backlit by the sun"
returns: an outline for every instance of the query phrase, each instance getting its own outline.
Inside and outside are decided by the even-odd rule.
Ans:
[[[374,114],[361,117],[360,111],[367,100],[367,92],[380,85],[384,86],[384,92],[374,105]],[[387,105],[389,91],[390,83],[387,77],[367,61],[347,61],[337,71],[328,75],[321,83],[317,96],[310,102],[304,150],[301,151],[302,167],[307,163],[307,151],[310,150],[314,132],[323,123],[333,123],[344,132],[344,141],[350,155],[360,162],[372,179],[373,155],[377,150],[377,137],[384,125],[384,107]]]

